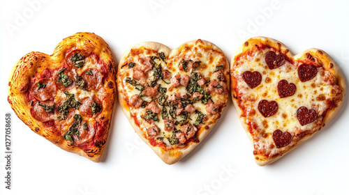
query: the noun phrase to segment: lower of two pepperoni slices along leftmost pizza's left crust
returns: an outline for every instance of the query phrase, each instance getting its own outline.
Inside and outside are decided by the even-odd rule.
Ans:
[[[54,119],[54,113],[52,113],[52,111],[46,111],[44,107],[52,107],[53,104],[54,102],[52,100],[47,100],[45,102],[33,102],[33,106],[30,107],[30,114],[40,122],[52,120]],[[56,109],[55,107],[56,105],[54,105],[54,109]]]

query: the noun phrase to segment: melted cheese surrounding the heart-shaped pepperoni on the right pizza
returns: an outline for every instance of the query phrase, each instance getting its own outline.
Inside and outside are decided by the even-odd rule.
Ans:
[[[252,123],[257,125],[258,130],[254,131],[254,146],[256,150],[267,150],[270,155],[279,153],[284,148],[269,148],[274,144],[272,133],[275,130],[281,130],[282,132],[290,132],[292,137],[309,130],[311,132],[320,129],[320,126],[313,123],[300,125],[297,119],[297,109],[299,107],[306,107],[308,109],[314,109],[318,116],[321,116],[324,111],[327,110],[326,100],[333,98],[332,85],[328,81],[324,81],[324,77],[330,77],[328,72],[323,72],[323,68],[318,68],[317,75],[309,80],[302,82],[299,80],[297,67],[299,62],[295,62],[292,65],[288,61],[285,61],[279,68],[270,70],[265,62],[265,54],[270,49],[264,49],[256,52],[254,56],[243,56],[239,61],[239,65],[234,68],[232,72],[233,77],[237,79],[237,87],[242,93],[242,104],[246,106],[246,118],[245,123]],[[262,75],[261,83],[255,87],[250,88],[244,79],[242,74],[245,71],[258,71]],[[295,84],[295,94],[286,98],[280,98],[278,93],[278,83],[281,79],[285,79],[288,83]],[[324,100],[325,99],[325,100]],[[276,101],[279,109],[273,116],[265,118],[258,110],[258,102],[261,100]],[[321,119],[321,118],[320,118]],[[315,128],[314,128],[315,127]],[[263,137],[263,134],[267,133],[267,137]],[[294,143],[291,143],[291,146]]]

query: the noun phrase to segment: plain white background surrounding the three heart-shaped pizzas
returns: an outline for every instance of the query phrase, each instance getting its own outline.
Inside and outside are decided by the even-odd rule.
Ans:
[[[36,3],[31,3],[36,2]],[[232,101],[205,141],[167,165],[133,131],[115,102],[103,162],[67,153],[15,116],[7,98],[13,64],[52,54],[63,39],[94,32],[122,52],[141,41],[177,47],[198,38],[228,59],[244,40],[267,36],[294,54],[325,50],[349,75],[348,1],[1,1],[0,194],[349,194],[348,98],[312,139],[260,167]],[[13,114],[12,183],[5,189],[5,113]]]

